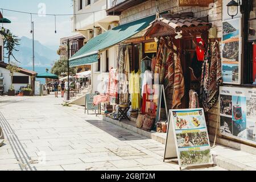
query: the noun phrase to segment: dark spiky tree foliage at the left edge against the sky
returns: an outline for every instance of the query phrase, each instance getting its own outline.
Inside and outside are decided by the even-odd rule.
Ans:
[[[19,51],[18,49],[16,49],[16,46],[19,46],[20,40],[18,39],[18,36],[11,34],[10,31],[6,32],[5,30],[1,30],[0,34],[3,35],[3,47],[7,50],[6,58],[8,59],[8,63],[10,63],[11,57],[13,57],[15,61],[19,62],[13,55],[14,51]]]

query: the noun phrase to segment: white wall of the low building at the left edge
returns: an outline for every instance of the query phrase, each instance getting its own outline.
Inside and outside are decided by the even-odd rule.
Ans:
[[[1,73],[3,74],[3,84],[5,86],[5,93],[8,92],[8,90],[11,87],[11,76],[10,76],[10,71],[5,68],[0,68],[0,76]],[[27,76],[24,75],[23,73],[14,73],[14,76]],[[31,84],[31,76],[28,76],[28,84]],[[27,86],[27,84],[13,84],[15,91],[18,91],[20,86]]]

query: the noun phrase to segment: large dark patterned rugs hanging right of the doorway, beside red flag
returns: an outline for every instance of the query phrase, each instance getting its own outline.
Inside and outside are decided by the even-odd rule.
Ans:
[[[202,68],[200,99],[205,111],[216,104],[219,86],[222,84],[221,59],[219,44],[208,46]]]

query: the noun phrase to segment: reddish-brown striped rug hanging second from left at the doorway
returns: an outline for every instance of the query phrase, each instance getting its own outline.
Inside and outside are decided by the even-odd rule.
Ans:
[[[166,73],[164,76],[164,88],[174,84],[174,53],[170,51],[166,61]]]

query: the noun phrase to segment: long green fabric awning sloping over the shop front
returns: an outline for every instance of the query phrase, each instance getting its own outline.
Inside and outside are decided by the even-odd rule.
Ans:
[[[144,30],[153,20],[155,15],[147,18],[135,20],[134,22],[122,24],[112,30],[90,39],[79,51],[69,59],[69,65],[75,67],[78,65],[91,64],[98,61],[98,52],[102,49],[114,46],[127,38]]]

